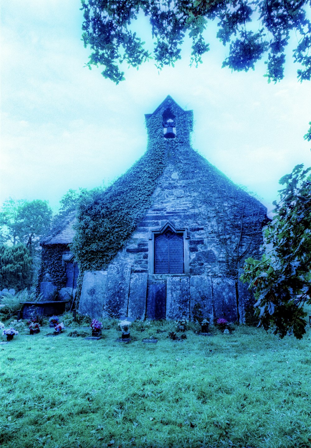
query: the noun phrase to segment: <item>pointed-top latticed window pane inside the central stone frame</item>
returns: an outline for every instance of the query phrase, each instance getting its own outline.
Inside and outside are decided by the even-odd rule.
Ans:
[[[184,236],[167,228],[154,236],[154,273],[184,273]]]

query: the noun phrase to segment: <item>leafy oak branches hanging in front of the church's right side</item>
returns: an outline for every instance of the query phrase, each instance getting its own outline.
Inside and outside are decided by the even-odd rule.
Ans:
[[[261,260],[247,258],[241,280],[250,283],[259,324],[284,337],[306,332],[304,304],[311,304],[311,168],[297,165],[280,179],[280,202],[267,226]]]

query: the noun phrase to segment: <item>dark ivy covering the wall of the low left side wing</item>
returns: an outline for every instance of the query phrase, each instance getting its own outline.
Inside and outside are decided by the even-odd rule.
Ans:
[[[40,293],[40,285],[46,273],[48,273],[50,281],[53,282],[57,289],[66,286],[66,271],[65,265],[62,262],[62,255],[67,247],[65,244],[53,244],[42,247],[41,265],[36,286],[37,295]]]

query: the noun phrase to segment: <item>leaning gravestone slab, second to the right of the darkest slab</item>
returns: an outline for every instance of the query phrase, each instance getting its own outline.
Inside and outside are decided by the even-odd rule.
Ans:
[[[192,276],[190,277],[190,320],[200,317],[209,319],[210,323],[213,323],[212,282],[207,276]]]

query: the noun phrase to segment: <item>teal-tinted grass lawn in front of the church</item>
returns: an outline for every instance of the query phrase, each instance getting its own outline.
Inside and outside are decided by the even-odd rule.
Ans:
[[[163,329],[157,344],[133,329],[122,344],[116,328],[90,341],[44,327],[0,345],[0,445],[310,447],[310,330],[173,342]]]

